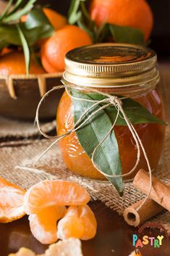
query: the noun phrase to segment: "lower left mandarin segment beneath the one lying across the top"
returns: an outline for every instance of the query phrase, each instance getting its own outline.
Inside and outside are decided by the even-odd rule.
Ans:
[[[64,217],[65,212],[64,206],[52,206],[41,210],[38,214],[30,215],[30,231],[35,239],[42,244],[52,244],[57,241],[56,222]]]

